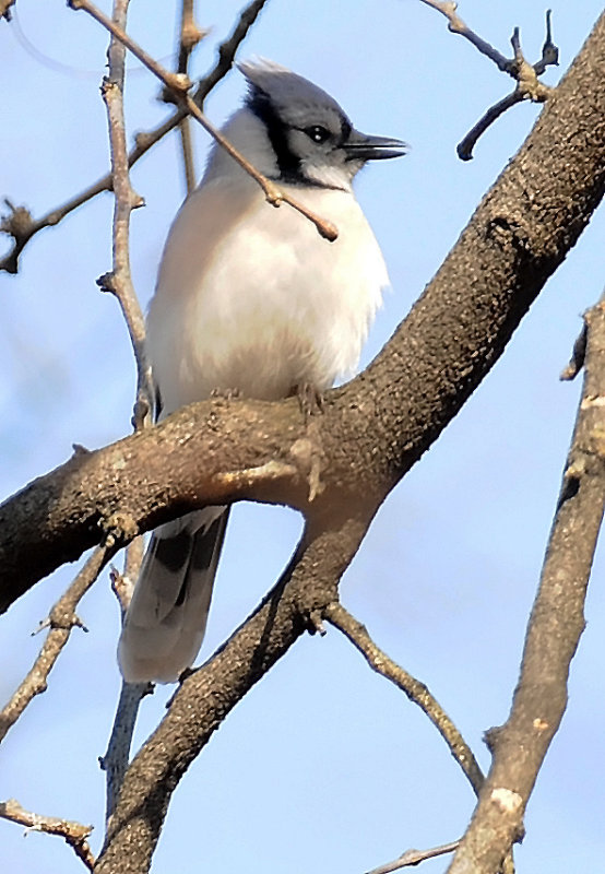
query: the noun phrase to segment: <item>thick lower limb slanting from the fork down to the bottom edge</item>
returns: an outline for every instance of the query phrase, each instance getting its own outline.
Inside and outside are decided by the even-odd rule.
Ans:
[[[215,656],[182,683],[126,775],[97,874],[149,870],[170,795],[186,769],[232,708],[302,634],[305,617],[334,601],[337,580],[366,529],[361,519],[340,517],[317,535],[307,530],[277,586]]]

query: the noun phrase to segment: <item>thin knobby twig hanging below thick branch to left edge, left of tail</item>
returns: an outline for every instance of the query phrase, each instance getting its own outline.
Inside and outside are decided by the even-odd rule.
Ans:
[[[83,627],[75,615],[75,607],[98,577],[107,559],[108,550],[106,547],[95,550],[69,589],[50,611],[48,619],[43,624],[43,627],[48,625],[50,630],[39,656],[10,701],[0,711],[0,741],[4,739],[29,701],[36,695],[46,692],[48,675],[68,642],[72,629],[76,626]]]

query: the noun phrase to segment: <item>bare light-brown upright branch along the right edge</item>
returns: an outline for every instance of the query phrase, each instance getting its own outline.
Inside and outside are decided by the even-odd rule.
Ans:
[[[605,31],[605,16],[601,27]],[[605,507],[605,298],[585,317],[578,418],[507,723],[488,734],[489,775],[449,871],[491,874],[523,834],[523,815],[567,707],[571,660]]]

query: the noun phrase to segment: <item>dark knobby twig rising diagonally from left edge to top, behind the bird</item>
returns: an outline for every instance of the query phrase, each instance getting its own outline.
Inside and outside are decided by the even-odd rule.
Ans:
[[[5,0],[0,0],[5,2]],[[212,88],[228,73],[237,49],[248,34],[248,31],[258,17],[266,0],[253,0],[246,7],[232,35],[218,46],[218,59],[213,69],[201,80],[193,95],[199,106],[212,91]],[[2,7],[0,5],[0,9]],[[158,143],[164,137],[174,130],[187,115],[181,107],[174,115],[150,131],[139,133],[134,139],[134,147],[128,155],[128,166],[132,167],[150,149]],[[80,194],[66,201],[60,206],[55,208],[41,218],[34,220],[32,214],[24,206],[14,206],[8,199],[4,203],[9,208],[8,215],[0,221],[0,232],[13,237],[13,246],[9,252],[0,260],[0,271],[16,273],[19,270],[19,257],[32,237],[45,227],[54,227],[59,224],[66,215],[76,210],[83,203],[100,194],[103,191],[111,190],[111,174],[108,173],[102,179],[91,185]]]

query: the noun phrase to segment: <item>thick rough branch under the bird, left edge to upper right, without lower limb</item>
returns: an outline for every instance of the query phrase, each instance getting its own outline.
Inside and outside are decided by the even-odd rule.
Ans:
[[[295,401],[214,399],[79,453],[0,507],[0,606],[97,543],[99,528],[127,540],[204,501],[245,497],[316,516],[343,496],[376,506],[500,356],[604,186],[602,16],[408,318],[365,374],[330,392],[312,434]],[[309,504],[318,471],[323,491]]]

